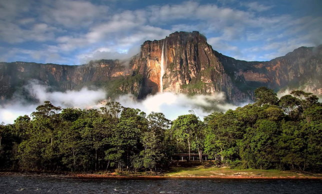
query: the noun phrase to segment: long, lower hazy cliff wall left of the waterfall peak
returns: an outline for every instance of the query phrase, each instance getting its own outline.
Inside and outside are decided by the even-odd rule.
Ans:
[[[139,76],[132,76],[131,68],[119,60],[99,60],[78,66],[1,62],[0,100],[11,98],[14,92],[23,92],[23,86],[30,80],[38,80],[40,84],[49,86],[50,90],[64,91],[97,86],[118,94],[139,91],[140,79]]]

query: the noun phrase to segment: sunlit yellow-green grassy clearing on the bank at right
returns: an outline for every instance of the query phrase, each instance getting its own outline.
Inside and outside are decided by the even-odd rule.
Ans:
[[[310,178],[321,177],[321,174],[304,174],[291,171],[258,170],[258,169],[230,169],[230,168],[205,168],[202,166],[182,168],[172,167],[164,176],[168,177],[258,177],[258,178]]]

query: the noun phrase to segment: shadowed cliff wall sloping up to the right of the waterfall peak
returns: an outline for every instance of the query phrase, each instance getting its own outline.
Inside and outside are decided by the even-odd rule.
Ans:
[[[299,47],[285,56],[263,62],[240,61],[224,55],[219,58],[225,72],[234,72],[234,79],[244,79],[243,86],[266,86],[275,91],[300,88],[322,95],[322,45]]]

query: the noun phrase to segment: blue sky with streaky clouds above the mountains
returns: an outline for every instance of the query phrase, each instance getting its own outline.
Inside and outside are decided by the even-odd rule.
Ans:
[[[124,59],[145,40],[199,31],[214,50],[270,60],[322,44],[322,0],[0,0],[0,61]]]

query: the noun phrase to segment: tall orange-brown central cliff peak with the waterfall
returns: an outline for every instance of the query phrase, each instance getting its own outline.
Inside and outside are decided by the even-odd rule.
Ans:
[[[162,40],[145,41],[137,66],[145,78],[142,92],[145,95],[158,91],[211,95],[223,91],[234,102],[250,97],[235,87],[215,51],[197,31],[174,32]]]

